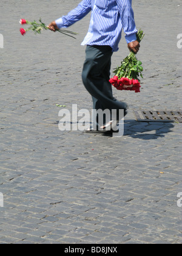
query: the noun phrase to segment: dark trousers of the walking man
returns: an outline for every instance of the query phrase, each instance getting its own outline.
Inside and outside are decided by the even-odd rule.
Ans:
[[[112,54],[110,46],[87,46],[82,77],[86,90],[92,96],[93,109],[109,109],[110,113],[117,110],[118,118],[119,110],[123,109],[126,115],[128,106],[113,98],[112,85],[109,82]]]

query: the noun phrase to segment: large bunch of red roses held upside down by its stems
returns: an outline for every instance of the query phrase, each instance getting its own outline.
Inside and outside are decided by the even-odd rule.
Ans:
[[[144,33],[143,30],[139,30],[136,34],[137,41],[143,39]],[[121,62],[121,66],[118,66],[113,73],[115,76],[109,80],[109,82],[117,90],[130,90],[135,91],[135,93],[140,93],[140,79],[143,78],[142,63],[136,59],[136,55],[133,52]]]

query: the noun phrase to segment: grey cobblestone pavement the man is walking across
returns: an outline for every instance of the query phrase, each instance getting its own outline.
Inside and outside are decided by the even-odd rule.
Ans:
[[[79,0],[1,0],[0,243],[181,243],[181,123],[140,123],[133,110],[181,110],[181,1],[133,1],[146,32],[141,93],[116,91],[130,106],[123,137],[58,129],[61,108],[91,110],[80,46],[90,16],[53,32],[19,33],[19,19],[50,21]],[[128,54],[126,42],[112,69]],[[118,135],[119,136],[119,135]]]

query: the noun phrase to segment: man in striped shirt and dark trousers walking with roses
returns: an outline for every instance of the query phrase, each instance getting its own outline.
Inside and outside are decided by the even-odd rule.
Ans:
[[[87,132],[108,132],[115,130],[119,121],[120,110],[127,113],[127,104],[113,98],[110,79],[111,57],[118,51],[122,29],[126,34],[127,46],[135,54],[140,44],[136,40],[136,26],[132,9],[132,0],[83,0],[78,6],[49,24],[49,29],[56,31],[69,27],[81,20],[90,11],[89,31],[82,45],[87,45],[86,61],[83,67],[83,84],[93,99],[93,110],[109,110],[109,120],[99,123],[99,116],[92,119],[93,124]],[[116,110],[112,115],[112,110]],[[93,112],[94,113],[94,112]]]

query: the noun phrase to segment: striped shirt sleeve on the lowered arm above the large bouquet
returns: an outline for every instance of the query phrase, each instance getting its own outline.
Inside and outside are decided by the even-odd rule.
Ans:
[[[123,30],[127,43],[136,40],[136,26],[132,9],[132,0],[116,0],[121,15]]]

